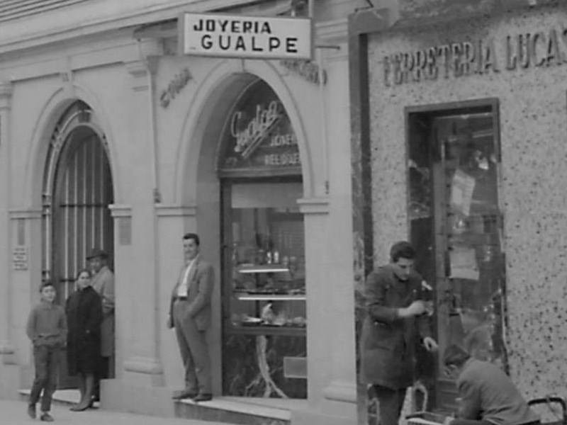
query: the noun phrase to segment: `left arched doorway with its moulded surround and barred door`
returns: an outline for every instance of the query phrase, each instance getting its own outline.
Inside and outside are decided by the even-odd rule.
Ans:
[[[55,126],[43,179],[42,274],[55,283],[61,305],[74,290],[77,272],[86,266],[92,247],[113,258],[111,203],[112,176],[103,132],[91,108],[76,101]],[[73,385],[66,370],[63,363],[60,387]]]

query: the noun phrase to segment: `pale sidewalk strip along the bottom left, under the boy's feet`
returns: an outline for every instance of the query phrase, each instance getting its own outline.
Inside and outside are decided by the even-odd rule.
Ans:
[[[31,419],[27,413],[28,405],[24,401],[0,400],[0,425],[44,424],[39,420],[40,404],[38,403],[38,419]],[[66,425],[227,425],[222,422],[197,421],[191,419],[165,419],[140,414],[108,412],[103,409],[88,409],[84,412],[71,412],[69,407],[54,404],[51,414],[54,424]]]

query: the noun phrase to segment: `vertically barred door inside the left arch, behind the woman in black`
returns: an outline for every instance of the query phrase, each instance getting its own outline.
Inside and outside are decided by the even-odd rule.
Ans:
[[[94,246],[113,258],[111,171],[99,136],[89,127],[73,130],[62,150],[52,196],[52,281],[57,301],[64,305],[74,290],[77,272],[87,266]],[[112,264],[109,264],[113,268]],[[74,386],[62,356],[60,387]]]

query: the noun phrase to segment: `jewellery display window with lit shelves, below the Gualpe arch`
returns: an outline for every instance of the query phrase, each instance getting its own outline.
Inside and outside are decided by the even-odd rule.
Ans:
[[[304,333],[303,215],[296,203],[301,193],[301,183],[232,185],[231,331]]]

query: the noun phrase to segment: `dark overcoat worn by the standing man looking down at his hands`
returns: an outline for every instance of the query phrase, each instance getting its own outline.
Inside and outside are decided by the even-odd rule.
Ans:
[[[369,274],[364,284],[366,318],[360,339],[361,378],[364,382],[398,390],[413,383],[416,324],[422,337],[430,336],[429,317],[402,318],[397,310],[422,300],[422,278],[410,273],[399,280],[392,266]]]

